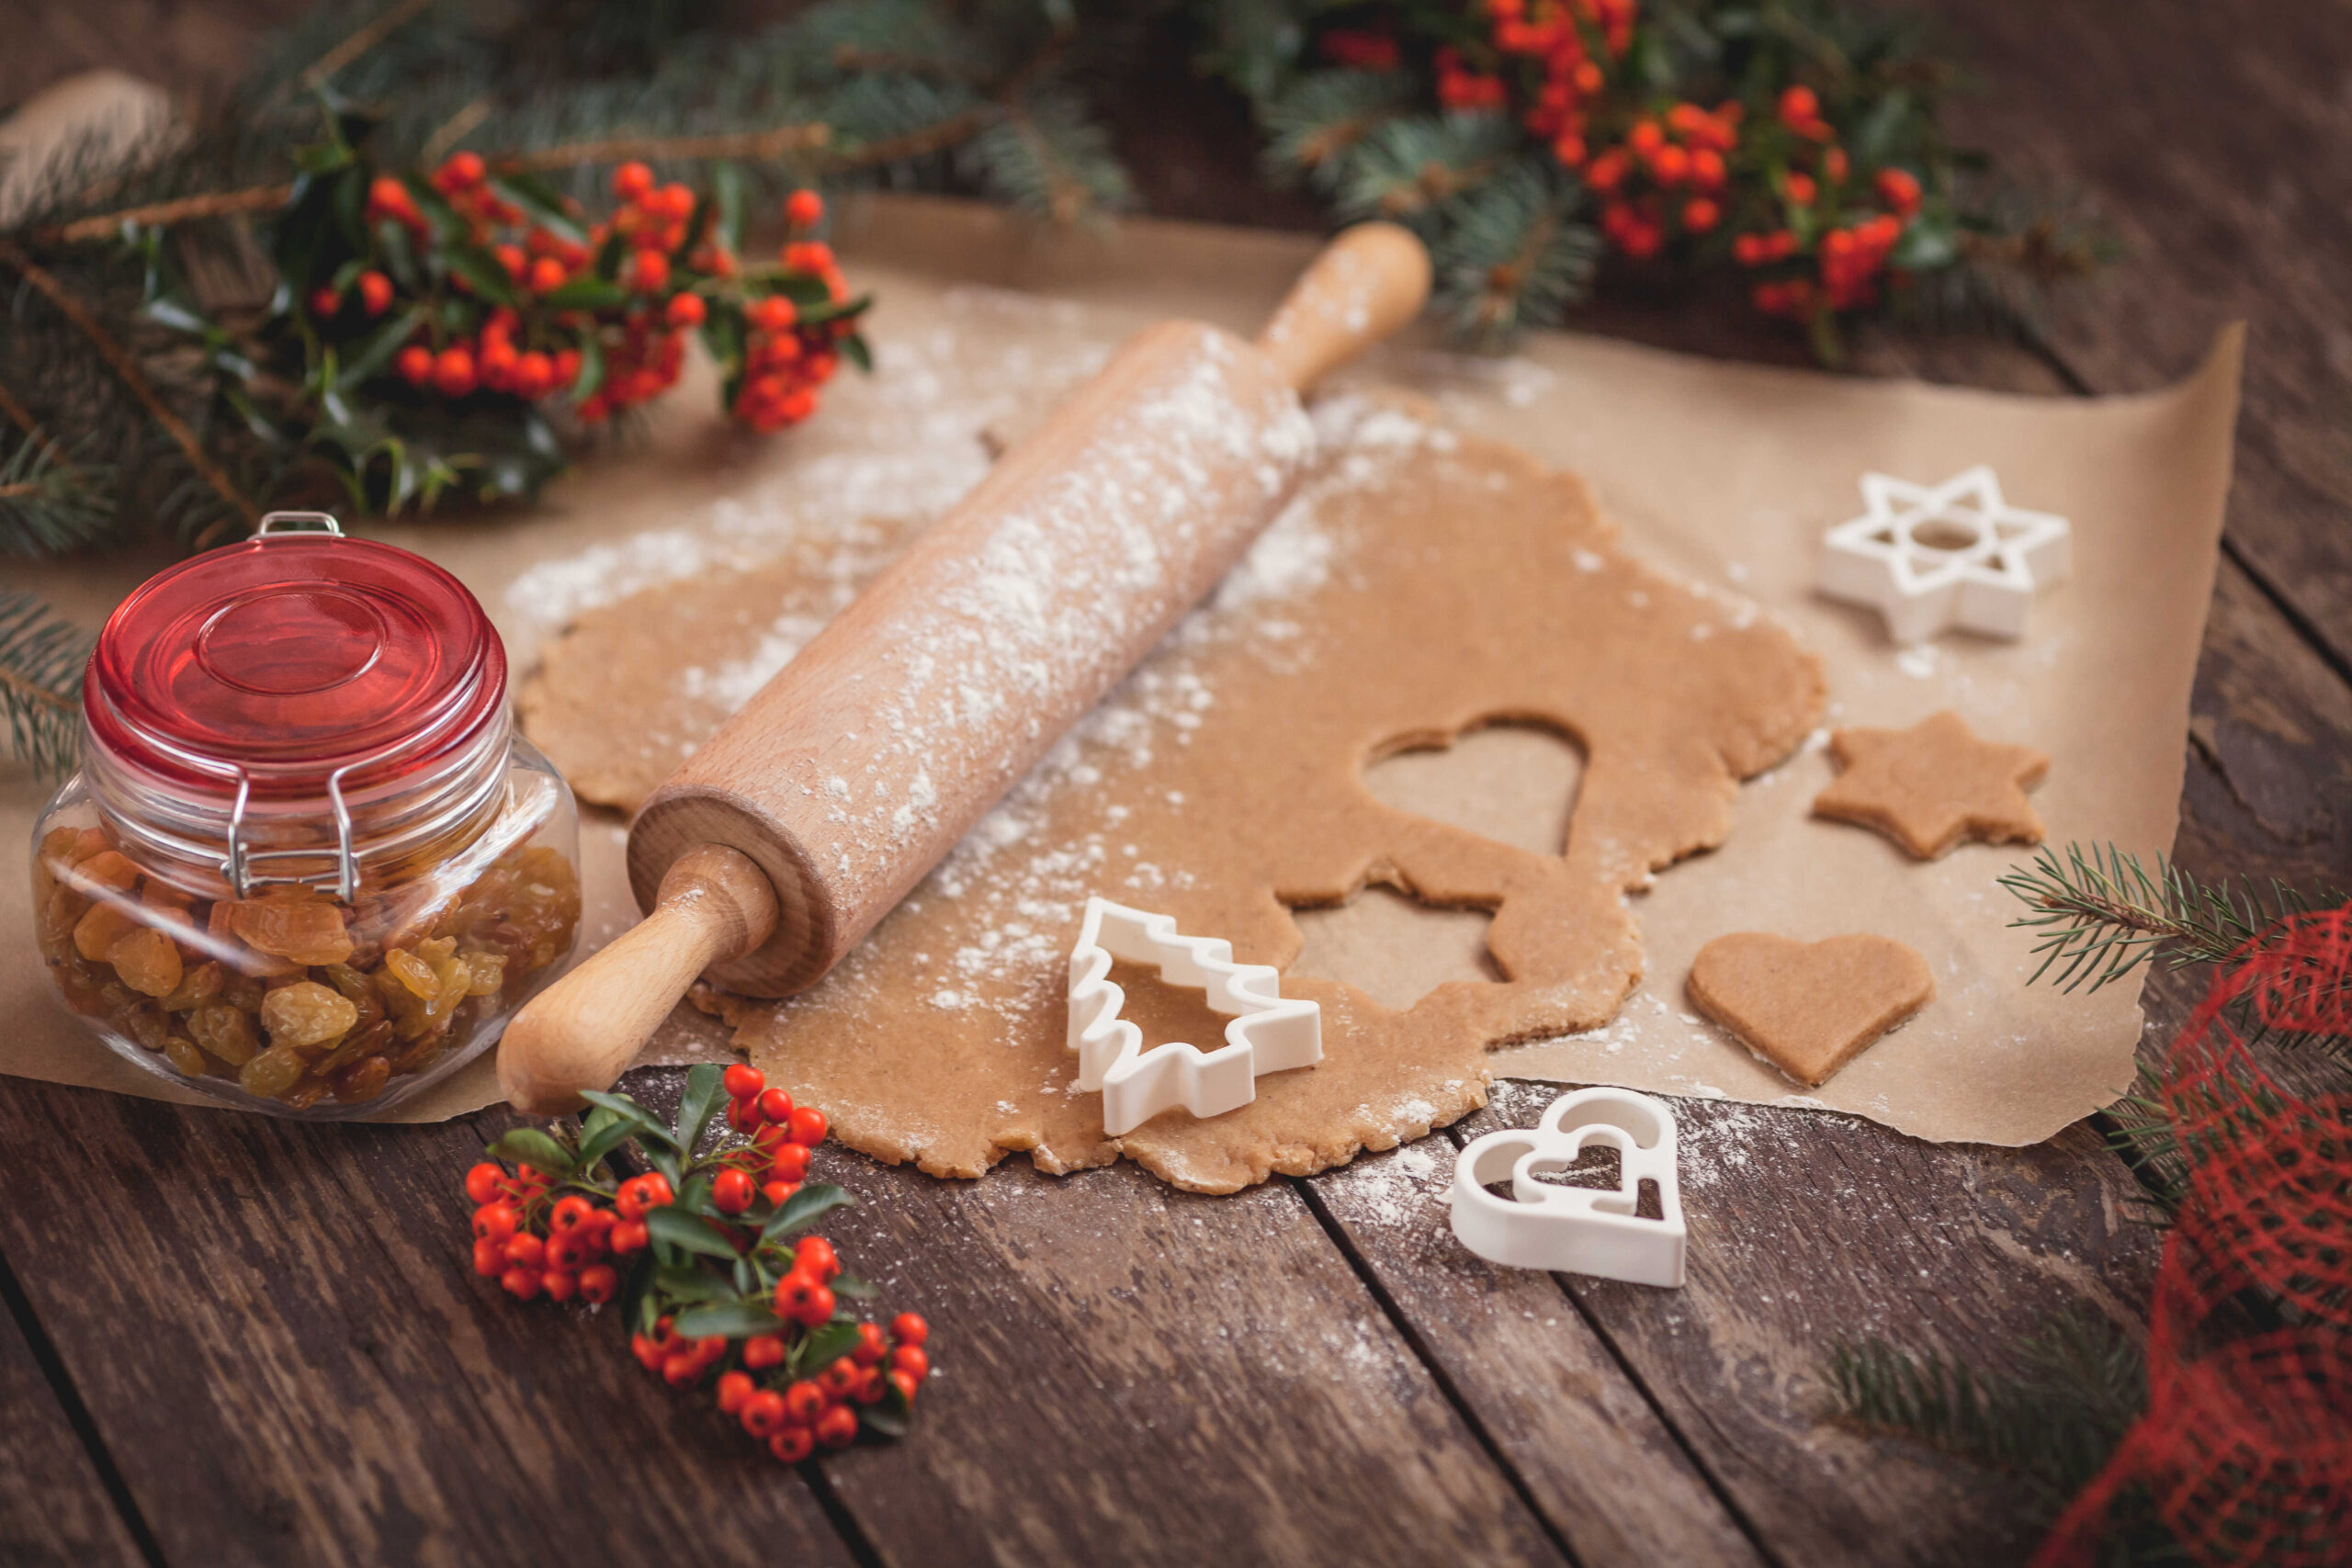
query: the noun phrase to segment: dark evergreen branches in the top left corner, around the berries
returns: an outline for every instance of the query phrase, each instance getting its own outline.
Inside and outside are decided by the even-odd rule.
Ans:
[[[325,209],[355,158],[416,179],[480,153],[581,223],[628,160],[734,214],[915,183],[1073,221],[1129,200],[1084,66],[1058,0],[821,0],[757,31],[717,0],[325,0],[219,101],[54,153],[0,228],[0,552],[205,545],[343,487],[386,505],[463,475],[499,498],[562,465],[576,433],[529,404],[445,416],[381,367],[320,397],[306,235],[360,223]]]

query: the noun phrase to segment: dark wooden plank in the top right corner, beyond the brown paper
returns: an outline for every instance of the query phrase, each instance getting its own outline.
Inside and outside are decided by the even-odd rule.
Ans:
[[[2352,9],[1931,0],[1980,80],[1955,129],[2089,193],[2131,254],[2049,343],[2103,393],[2192,369],[2244,317],[2230,541],[2352,670]]]

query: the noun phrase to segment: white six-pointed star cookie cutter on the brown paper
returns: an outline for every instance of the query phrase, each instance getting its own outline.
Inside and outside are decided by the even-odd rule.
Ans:
[[[1865,473],[1863,505],[1823,538],[1818,585],[1877,609],[1896,642],[1955,625],[2023,637],[2034,595],[2072,564],[2072,524],[2009,505],[1983,465],[1943,484]]]

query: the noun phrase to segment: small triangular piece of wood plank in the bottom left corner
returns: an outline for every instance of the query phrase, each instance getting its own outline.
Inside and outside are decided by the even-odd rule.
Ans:
[[[14,1314],[0,1314],[0,1559],[21,1568],[139,1563],[139,1544]]]

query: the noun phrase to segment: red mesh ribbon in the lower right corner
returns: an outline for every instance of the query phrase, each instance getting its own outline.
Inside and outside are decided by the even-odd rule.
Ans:
[[[2352,1563],[2352,1095],[2265,1074],[2225,1020],[2241,999],[2272,1030],[2352,1034],[2352,907],[2249,943],[2173,1041],[2161,1100],[2190,1190],[2157,1269],[2147,1413],[2037,1568],[2093,1563],[2133,1483],[2199,1563]],[[2270,1319],[2288,1326],[2256,1331]]]

